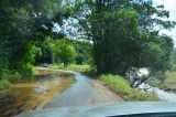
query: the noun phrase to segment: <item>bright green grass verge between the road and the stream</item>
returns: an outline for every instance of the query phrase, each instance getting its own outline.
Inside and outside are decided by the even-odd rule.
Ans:
[[[122,76],[118,75],[101,75],[100,79],[105,84],[116,92],[118,95],[122,96],[127,100],[140,100],[140,102],[154,102],[161,100],[154,94],[144,93],[138,88],[131,88],[130,84]]]

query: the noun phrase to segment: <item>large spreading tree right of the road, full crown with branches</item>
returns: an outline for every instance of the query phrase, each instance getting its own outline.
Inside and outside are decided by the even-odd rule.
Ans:
[[[154,7],[146,0],[77,0],[70,9],[68,13],[79,22],[79,33],[94,42],[99,74],[124,75],[130,67],[152,66],[158,71],[165,66],[162,63],[167,63],[169,54],[166,53],[170,50],[166,52],[166,47],[162,47],[160,40],[165,41],[158,32],[172,29],[175,22],[161,19],[169,17],[164,6]],[[172,40],[169,45],[173,45]],[[155,55],[154,52],[160,53]],[[150,57],[157,62],[151,64]]]

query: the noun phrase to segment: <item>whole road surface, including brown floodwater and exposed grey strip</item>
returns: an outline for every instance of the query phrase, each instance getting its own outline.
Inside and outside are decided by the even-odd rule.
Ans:
[[[123,102],[98,79],[80,73],[36,67],[38,75],[24,77],[0,91],[0,117],[43,108],[88,106]]]

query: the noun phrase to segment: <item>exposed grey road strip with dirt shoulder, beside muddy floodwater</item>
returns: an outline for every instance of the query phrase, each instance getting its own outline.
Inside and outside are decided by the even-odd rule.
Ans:
[[[58,71],[58,70],[54,70]],[[123,102],[123,98],[108,89],[98,79],[90,79],[77,72],[73,73],[76,83],[47,103],[43,108],[65,107],[65,106],[88,106],[96,104],[107,104]]]

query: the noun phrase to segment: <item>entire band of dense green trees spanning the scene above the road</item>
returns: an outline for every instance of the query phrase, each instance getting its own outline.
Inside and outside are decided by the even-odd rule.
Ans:
[[[160,33],[175,26],[168,18],[152,0],[2,0],[0,88],[43,63],[121,76],[148,67],[164,82],[176,64],[173,39]]]

